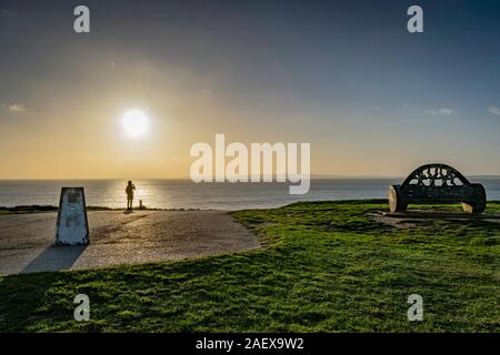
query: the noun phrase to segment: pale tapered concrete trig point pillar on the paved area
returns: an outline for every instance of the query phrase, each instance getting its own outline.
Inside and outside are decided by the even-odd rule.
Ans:
[[[83,187],[62,187],[53,245],[82,245],[89,242]]]

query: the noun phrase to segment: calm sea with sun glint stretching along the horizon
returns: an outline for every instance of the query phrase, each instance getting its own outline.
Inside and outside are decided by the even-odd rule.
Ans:
[[[384,199],[401,179],[312,179],[303,195],[289,183],[194,183],[190,180],[133,180],[134,204],[153,209],[242,210],[278,207],[297,201]],[[500,176],[478,176],[489,200],[500,200]],[[61,187],[83,186],[88,206],[124,209],[127,180],[0,180],[0,206],[59,204]]]

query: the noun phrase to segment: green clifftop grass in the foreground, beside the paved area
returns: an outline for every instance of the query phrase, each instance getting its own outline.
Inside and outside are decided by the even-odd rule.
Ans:
[[[239,211],[262,248],[1,277],[0,331],[499,332],[500,224],[396,229],[367,215],[386,209],[352,201]],[[73,321],[79,293],[90,297],[89,322]],[[407,320],[414,293],[423,322]]]

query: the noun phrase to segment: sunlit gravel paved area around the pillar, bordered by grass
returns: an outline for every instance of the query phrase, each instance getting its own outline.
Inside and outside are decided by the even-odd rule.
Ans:
[[[0,274],[180,260],[259,246],[223,211],[89,212],[90,245],[52,246],[57,213],[0,215]]]

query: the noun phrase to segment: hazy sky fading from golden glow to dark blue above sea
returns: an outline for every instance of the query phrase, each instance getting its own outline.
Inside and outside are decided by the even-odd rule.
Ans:
[[[0,0],[0,179],[186,178],[216,133],[310,143],[313,175],[498,175],[499,18],[487,0]]]

